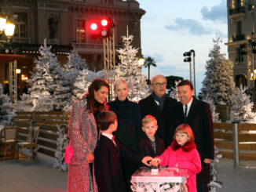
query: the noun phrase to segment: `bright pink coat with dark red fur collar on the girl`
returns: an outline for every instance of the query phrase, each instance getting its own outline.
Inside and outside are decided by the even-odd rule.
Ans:
[[[188,177],[186,186],[188,192],[196,192],[196,173],[201,171],[201,160],[196,150],[196,143],[187,142],[184,146],[180,146],[174,140],[169,147],[159,157],[161,162],[159,165],[177,168],[187,168]]]

